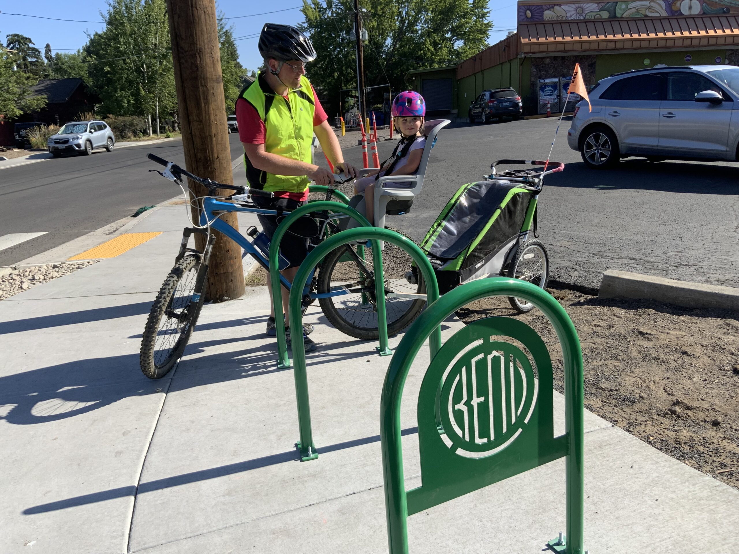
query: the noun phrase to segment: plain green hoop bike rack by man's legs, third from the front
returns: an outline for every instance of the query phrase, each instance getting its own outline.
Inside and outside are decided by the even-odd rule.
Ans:
[[[314,187],[320,186],[320,185],[313,185]],[[311,187],[313,188],[313,187]],[[285,236],[285,233],[287,233],[287,229],[290,228],[290,225],[293,225],[293,222],[296,221],[296,219],[299,219],[300,217],[304,216],[306,213],[311,213],[314,211],[323,211],[323,210],[330,210],[335,213],[344,213],[347,216],[353,217],[356,219],[361,225],[366,225],[367,227],[371,227],[371,224],[367,221],[367,218],[365,218],[361,213],[356,211],[354,208],[351,208],[350,206],[347,206],[346,204],[342,204],[341,202],[332,202],[327,200],[320,200],[319,202],[310,202],[310,204],[302,205],[300,208],[298,208],[295,211],[290,212],[285,219],[280,222],[280,224],[277,227],[277,230],[275,231],[272,240],[270,242],[270,256],[269,256],[269,263],[270,263],[270,283],[272,284],[272,304],[274,307],[275,316],[282,313],[282,294],[280,294],[280,287],[282,287],[282,283],[280,283],[279,280],[279,244],[282,242],[282,237]],[[378,248],[375,248],[374,250],[378,250]],[[324,254],[325,255],[325,254]],[[302,293],[303,287],[300,288],[300,291]],[[287,356],[287,341],[285,339],[285,321],[282,321],[282,318],[275,317],[275,326],[276,326],[276,332],[277,332],[277,367],[279,369],[287,369],[288,367],[291,367],[293,364],[290,362],[290,358]],[[300,329],[300,327],[299,327]],[[384,340],[383,340],[383,332],[384,332]],[[302,341],[299,341],[302,343]],[[380,329],[380,346],[381,348],[387,349],[387,329]]]

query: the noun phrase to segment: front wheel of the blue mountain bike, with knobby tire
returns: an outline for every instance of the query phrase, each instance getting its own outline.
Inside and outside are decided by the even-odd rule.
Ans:
[[[168,374],[182,356],[202,308],[204,267],[188,254],[177,262],[151,305],[139,355],[141,372],[149,379]]]

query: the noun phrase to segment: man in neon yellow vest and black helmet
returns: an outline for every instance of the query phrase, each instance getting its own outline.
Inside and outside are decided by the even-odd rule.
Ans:
[[[356,177],[357,170],[341,154],[336,134],[310,81],[305,77],[305,64],[316,59],[313,44],[295,27],[268,23],[259,36],[259,54],[265,70],[259,73],[236,100],[236,120],[244,146],[246,178],[249,186],[274,193],[273,199],[255,197],[254,201],[268,210],[293,211],[308,198],[308,185],[333,185],[333,174],[311,163],[313,134],[318,137],[337,171]],[[276,216],[259,215],[262,230],[271,239],[277,229]],[[308,239],[286,233],[280,243],[282,256],[290,265],[282,275],[293,282],[301,262],[307,256]],[[273,295],[270,281],[270,298]],[[282,306],[288,313],[288,293],[282,291]],[[275,335],[275,313],[270,302],[267,334]],[[280,314],[284,317],[283,314]],[[287,344],[291,345],[290,319],[285,318]],[[316,349],[308,338],[313,326],[304,325],[306,352]],[[296,339],[296,340],[299,340]]]

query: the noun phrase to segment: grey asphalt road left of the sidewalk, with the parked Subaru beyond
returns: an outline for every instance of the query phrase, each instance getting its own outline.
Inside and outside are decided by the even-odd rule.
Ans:
[[[230,159],[234,160],[243,149],[238,134],[228,137]],[[149,152],[175,163],[184,162],[182,141],[178,139],[0,168],[0,237],[45,233],[0,250],[0,267],[180,194],[177,186],[147,171],[159,167],[146,159]]]

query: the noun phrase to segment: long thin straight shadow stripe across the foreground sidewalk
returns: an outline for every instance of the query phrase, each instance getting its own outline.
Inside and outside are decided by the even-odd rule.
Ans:
[[[418,427],[411,427],[403,429],[401,434],[403,436],[418,433]],[[346,448],[355,448],[357,446],[363,446],[372,444],[372,442],[380,442],[380,435],[373,435],[372,437],[362,437],[361,439],[347,440],[344,442],[338,442],[333,445],[324,446],[319,448],[319,454],[328,454],[329,452],[336,452],[344,450]],[[74,496],[69,499],[58,500],[56,502],[49,502],[48,504],[41,504],[33,506],[23,510],[25,516],[32,516],[37,513],[47,513],[56,510],[64,510],[69,507],[84,506],[88,504],[95,504],[96,502],[104,502],[106,500],[124,498],[126,496],[136,496],[137,494],[151,493],[155,490],[163,490],[171,487],[178,487],[180,485],[188,485],[189,483],[207,481],[208,479],[217,479],[218,477],[234,475],[234,473],[242,473],[245,471],[251,471],[253,469],[265,468],[268,465],[283,464],[285,462],[295,462],[299,460],[297,450],[290,450],[287,452],[280,452],[279,454],[270,454],[269,456],[262,456],[261,458],[248,459],[244,462],[236,462],[235,464],[221,465],[218,468],[204,469],[200,471],[192,471],[191,473],[182,473],[164,479],[156,479],[154,481],[143,482],[139,485],[138,491],[134,485],[127,487],[113,488],[109,490],[102,490],[99,493],[84,494],[82,496]]]

